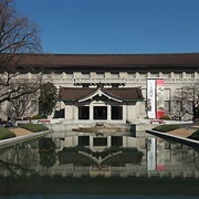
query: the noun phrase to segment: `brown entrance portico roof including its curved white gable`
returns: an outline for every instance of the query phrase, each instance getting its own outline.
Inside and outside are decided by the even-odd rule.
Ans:
[[[106,96],[116,102],[123,101],[143,101],[140,87],[61,87],[59,101],[84,102],[93,100],[94,96]]]

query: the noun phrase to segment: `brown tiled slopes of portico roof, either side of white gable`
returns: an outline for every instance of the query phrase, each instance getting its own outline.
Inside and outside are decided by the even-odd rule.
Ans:
[[[92,95],[96,92],[98,87],[61,87],[59,97],[60,101],[78,101],[86,96]],[[115,98],[121,98],[123,101],[142,101],[144,100],[142,90],[139,87],[112,87],[112,88],[103,88],[105,94],[109,94]]]

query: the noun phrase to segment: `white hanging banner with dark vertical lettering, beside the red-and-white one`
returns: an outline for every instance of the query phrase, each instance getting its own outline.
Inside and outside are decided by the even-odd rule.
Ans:
[[[147,80],[147,114],[156,118],[156,80]]]

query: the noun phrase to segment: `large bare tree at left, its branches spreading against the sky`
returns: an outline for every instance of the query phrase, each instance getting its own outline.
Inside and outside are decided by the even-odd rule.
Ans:
[[[0,0],[0,103],[39,90],[41,75],[25,80],[18,72],[22,54],[41,52],[39,32],[35,23],[17,12],[12,0]]]

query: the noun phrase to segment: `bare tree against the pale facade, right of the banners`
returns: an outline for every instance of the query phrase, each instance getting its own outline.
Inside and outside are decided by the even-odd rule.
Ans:
[[[199,82],[180,87],[172,98],[174,116],[189,117],[192,121],[199,118]]]

